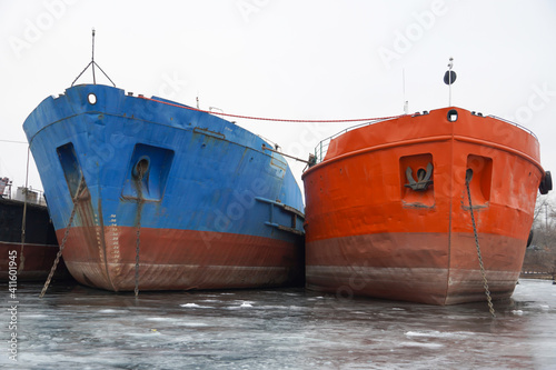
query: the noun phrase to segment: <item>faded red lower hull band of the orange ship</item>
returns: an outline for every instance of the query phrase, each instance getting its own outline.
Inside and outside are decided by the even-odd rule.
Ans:
[[[493,299],[514,292],[525,242],[480,236]],[[338,297],[367,296],[428,304],[486,300],[473,234],[384,233],[307,244],[307,288]]]

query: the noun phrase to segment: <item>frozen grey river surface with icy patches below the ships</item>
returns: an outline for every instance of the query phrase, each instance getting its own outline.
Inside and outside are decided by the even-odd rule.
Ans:
[[[18,287],[7,369],[556,369],[556,286],[435,307],[302,289],[111,293]],[[10,298],[6,289],[4,307]],[[17,362],[10,333],[17,332]]]

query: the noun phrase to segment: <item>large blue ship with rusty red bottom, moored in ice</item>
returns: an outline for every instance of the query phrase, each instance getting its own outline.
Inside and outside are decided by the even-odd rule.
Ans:
[[[136,292],[302,281],[301,191],[252,132],[102,84],[44,99],[23,130],[77,281]]]

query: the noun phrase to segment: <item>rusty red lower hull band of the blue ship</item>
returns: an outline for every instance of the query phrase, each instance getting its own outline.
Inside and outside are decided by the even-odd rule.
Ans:
[[[63,230],[58,231],[58,237]],[[137,229],[72,228],[63,256],[76,280],[93,288],[136,287]],[[141,229],[139,290],[279,287],[300,283],[301,244],[275,239],[191,230]]]

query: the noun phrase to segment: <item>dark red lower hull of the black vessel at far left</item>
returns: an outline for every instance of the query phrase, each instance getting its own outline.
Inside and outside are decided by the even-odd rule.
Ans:
[[[58,246],[24,244],[21,260],[21,243],[0,241],[0,281],[9,281],[10,251],[16,251],[18,268],[17,281],[46,281],[58,253]],[[69,278],[61,260],[54,274],[56,279]]]

